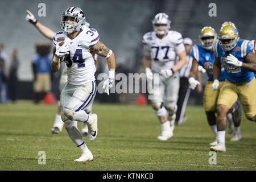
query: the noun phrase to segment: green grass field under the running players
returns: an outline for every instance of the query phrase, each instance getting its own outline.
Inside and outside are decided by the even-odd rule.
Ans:
[[[63,129],[51,134],[57,106],[33,104],[0,105],[0,170],[255,170],[256,125],[242,117],[240,142],[230,142],[210,165],[209,143],[214,135],[204,109],[188,106],[188,120],[175,126],[174,137],[163,142],[156,137],[160,125],[150,106],[95,104],[98,137],[84,138],[94,160],[79,163],[80,150]],[[78,123],[79,128],[81,124]],[[46,152],[46,165],[38,164],[38,152]]]

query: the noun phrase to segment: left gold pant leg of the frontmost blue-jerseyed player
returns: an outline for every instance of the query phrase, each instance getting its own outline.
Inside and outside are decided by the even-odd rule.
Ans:
[[[224,81],[218,94],[217,105],[225,105],[230,108],[237,101],[237,87],[229,81]]]

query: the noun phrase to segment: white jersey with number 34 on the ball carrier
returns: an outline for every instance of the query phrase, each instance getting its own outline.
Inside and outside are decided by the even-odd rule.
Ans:
[[[68,44],[69,55],[67,63],[68,84],[83,85],[86,82],[94,81],[96,63],[93,55],[89,52],[92,47],[100,40],[98,32],[93,28],[82,27],[75,39],[69,39],[65,32],[57,32],[53,38],[53,46],[60,42]]]

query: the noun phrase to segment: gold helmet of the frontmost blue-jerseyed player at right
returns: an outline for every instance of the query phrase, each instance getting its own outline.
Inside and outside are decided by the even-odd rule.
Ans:
[[[220,47],[223,51],[230,51],[236,47],[239,40],[238,30],[234,23],[224,22],[221,25],[220,32],[218,33]],[[231,40],[231,41],[230,41]],[[230,42],[230,43],[226,43]]]

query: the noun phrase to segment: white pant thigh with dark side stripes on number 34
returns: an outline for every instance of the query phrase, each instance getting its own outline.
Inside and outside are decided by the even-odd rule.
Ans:
[[[94,100],[97,86],[95,81],[88,82],[84,85],[77,86],[73,96],[69,99],[64,107],[73,111],[84,110]]]

